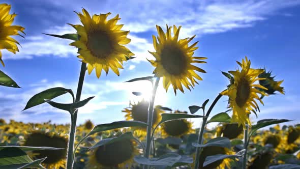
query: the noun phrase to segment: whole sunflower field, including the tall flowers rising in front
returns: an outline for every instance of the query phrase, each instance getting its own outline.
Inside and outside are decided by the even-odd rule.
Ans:
[[[148,51],[155,58],[148,60],[153,76],[126,81],[151,83],[149,98],[120,109],[122,121],[98,124],[92,119],[78,125],[80,108],[94,98],[81,98],[84,77],[94,69],[99,80],[102,70],[106,75],[111,70],[120,76],[123,63],[134,59],[135,54],[126,46],[131,42],[130,32],[117,23],[121,20],[118,14],[91,15],[84,8],[75,14],[81,24],[68,23],[75,34],[43,36],[72,40],[70,45],[78,49],[81,67],[76,93],[63,87],[40,91],[23,109],[49,104],[70,114],[71,123],[0,119],[0,168],[300,168],[300,125],[285,125],[293,119],[253,122],[250,118],[259,117],[259,106],[266,97],[285,92],[283,80],[277,81],[271,70],[253,67],[249,57],[232,63],[235,70],[220,72],[228,82],[223,91],[216,92],[215,100],[203,99],[201,104],[184,110],[155,104],[159,85],[165,92],[173,89],[174,95],[185,90],[193,92],[203,80],[201,74],[206,73],[201,65],[209,64],[207,58],[194,54],[198,49],[198,42],[192,42],[195,36],[179,38],[181,25],[156,25],[157,34],[152,36],[155,50]],[[0,4],[1,69],[6,68],[1,50],[18,52],[21,44],[12,37],[25,37],[24,27],[13,25],[15,17],[11,5]],[[0,85],[20,88],[1,70]],[[70,101],[52,100],[62,95],[68,95]],[[227,98],[227,107],[215,113],[213,109],[221,97]],[[201,124],[193,123],[196,118]]]

